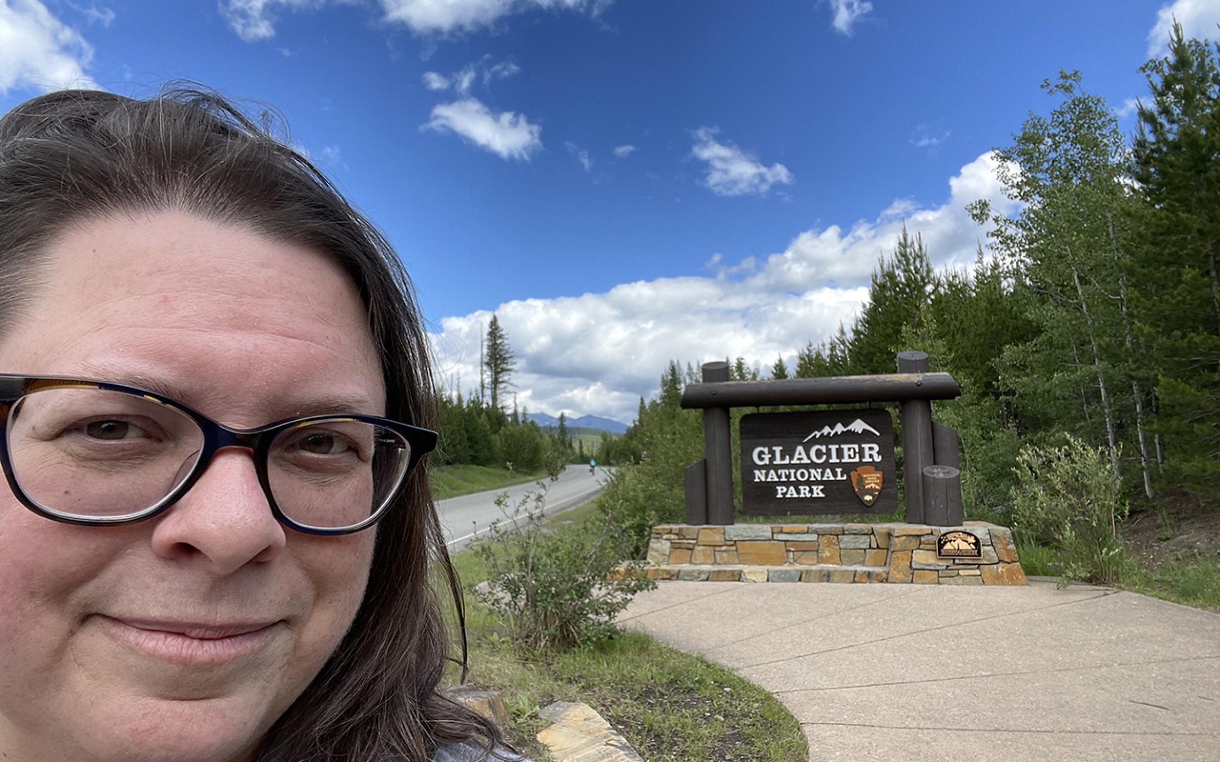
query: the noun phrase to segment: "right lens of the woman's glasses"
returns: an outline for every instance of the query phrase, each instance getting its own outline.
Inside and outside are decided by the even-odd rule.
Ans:
[[[267,455],[279,510],[298,524],[354,527],[379,515],[398,491],[411,445],[396,432],[350,418],[281,432]]]

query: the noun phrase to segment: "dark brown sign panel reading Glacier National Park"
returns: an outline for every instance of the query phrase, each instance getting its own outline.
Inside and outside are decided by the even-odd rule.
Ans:
[[[745,513],[888,513],[898,507],[894,424],[884,410],[742,418]]]

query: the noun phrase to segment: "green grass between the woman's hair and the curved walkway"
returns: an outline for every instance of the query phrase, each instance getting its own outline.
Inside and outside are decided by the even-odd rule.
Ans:
[[[595,502],[548,519],[593,521]],[[454,556],[468,590],[487,577],[472,552]],[[650,762],[805,762],[809,751],[795,718],[773,696],[700,656],[634,632],[597,647],[514,651],[495,616],[466,597],[468,683],[504,695],[514,721],[510,740],[536,762],[550,760],[534,735],[548,723],[538,710],[583,701],[601,713]]]

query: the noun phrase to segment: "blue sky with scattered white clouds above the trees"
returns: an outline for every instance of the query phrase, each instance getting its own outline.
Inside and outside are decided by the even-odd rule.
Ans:
[[[905,221],[939,266],[1002,201],[989,151],[1078,68],[1138,67],[1220,0],[0,0],[0,111],[172,78],[267,101],[387,233],[442,382],[494,310],[531,410],[630,421],[670,358],[789,361]]]

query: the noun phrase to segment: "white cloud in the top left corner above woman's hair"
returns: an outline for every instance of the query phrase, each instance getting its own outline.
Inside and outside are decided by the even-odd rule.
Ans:
[[[38,0],[0,2],[0,95],[26,88],[98,89],[84,73],[90,61],[93,46]]]

